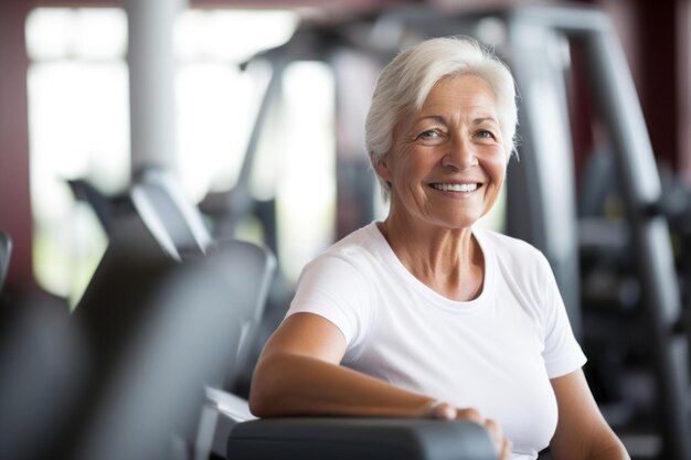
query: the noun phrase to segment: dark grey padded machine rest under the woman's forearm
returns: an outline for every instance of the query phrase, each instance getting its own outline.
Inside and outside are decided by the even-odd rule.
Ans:
[[[232,460],[493,460],[482,427],[416,418],[279,418],[236,425]]]

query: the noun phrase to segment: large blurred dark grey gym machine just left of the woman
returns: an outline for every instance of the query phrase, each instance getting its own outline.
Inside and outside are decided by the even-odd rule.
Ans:
[[[53,419],[52,442],[20,450],[22,458],[187,459],[203,431],[208,386],[231,386],[246,361],[274,256],[212,240],[180,190],[164,171],[147,171],[127,212],[108,221],[108,247],[70,321],[77,351],[56,363],[78,365],[70,389],[79,398],[42,393],[70,404]],[[40,382],[60,376],[45,371]]]

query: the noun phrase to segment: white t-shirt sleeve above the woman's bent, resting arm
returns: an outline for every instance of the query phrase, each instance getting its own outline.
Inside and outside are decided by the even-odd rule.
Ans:
[[[344,258],[327,255],[309,263],[298,279],[286,313],[313,313],[332,322],[349,347],[360,343],[369,329],[368,284]]]

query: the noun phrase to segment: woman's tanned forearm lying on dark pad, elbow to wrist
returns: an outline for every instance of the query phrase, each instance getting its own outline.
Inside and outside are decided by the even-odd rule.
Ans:
[[[249,395],[249,408],[258,417],[423,417],[433,403],[338,364],[294,354],[261,360]]]

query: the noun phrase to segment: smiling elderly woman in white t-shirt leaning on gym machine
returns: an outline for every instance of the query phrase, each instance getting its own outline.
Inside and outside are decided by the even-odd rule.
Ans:
[[[500,458],[628,458],[546,259],[475,225],[515,126],[513,78],[472,40],[428,40],[383,69],[366,147],[389,215],[304,269],[257,363],[254,414],[469,418]]]

